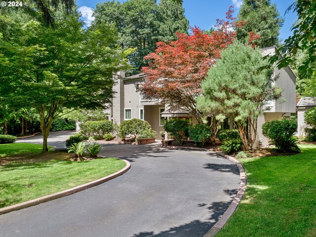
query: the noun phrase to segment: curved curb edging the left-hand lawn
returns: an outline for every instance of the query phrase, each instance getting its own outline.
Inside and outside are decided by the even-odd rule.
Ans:
[[[57,199],[57,198],[60,198],[60,197],[66,197],[68,195],[78,193],[78,192],[80,192],[82,190],[85,190],[85,189],[97,186],[97,185],[105,183],[105,182],[107,182],[107,181],[109,181],[111,179],[114,179],[114,178],[124,174],[127,170],[130,169],[130,162],[128,162],[125,159],[122,159],[122,160],[126,163],[126,166],[124,168],[122,168],[121,170],[119,170],[118,172],[116,172],[116,173],[110,174],[110,175],[108,175],[106,177],[103,177],[103,178],[91,181],[91,182],[86,183],[86,184],[82,184],[80,186],[77,186],[77,187],[74,187],[74,188],[71,188],[71,189],[60,191],[58,193],[50,194],[50,195],[47,195],[47,196],[44,196],[44,197],[39,197],[39,198],[36,198],[36,199],[33,199],[33,200],[29,200],[29,201],[25,201],[25,202],[21,202],[21,203],[15,204],[15,205],[11,205],[11,206],[6,206],[6,207],[3,207],[3,208],[0,208],[0,215],[2,215],[4,213],[11,212],[11,211],[20,210],[20,209],[23,209],[23,208],[26,208],[26,207],[35,206],[37,204],[40,204],[40,203],[43,203],[43,202],[46,202],[46,201],[50,201],[50,200],[54,200],[54,199]]]

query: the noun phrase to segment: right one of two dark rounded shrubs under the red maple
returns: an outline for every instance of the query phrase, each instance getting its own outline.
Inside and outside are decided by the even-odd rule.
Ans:
[[[195,124],[189,127],[190,138],[199,146],[204,146],[212,135],[210,127],[206,124]]]

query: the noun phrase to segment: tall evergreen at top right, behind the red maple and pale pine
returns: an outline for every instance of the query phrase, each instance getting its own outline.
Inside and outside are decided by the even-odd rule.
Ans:
[[[238,20],[245,20],[247,24],[237,29],[237,39],[247,41],[250,31],[260,35],[255,40],[259,47],[268,47],[278,43],[280,27],[284,19],[280,17],[276,4],[270,0],[243,0]]]

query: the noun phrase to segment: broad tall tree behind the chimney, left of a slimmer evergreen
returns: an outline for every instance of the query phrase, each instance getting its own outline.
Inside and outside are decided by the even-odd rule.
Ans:
[[[156,0],[129,0],[124,3],[106,1],[96,5],[95,24],[114,24],[123,47],[136,48],[129,55],[134,68],[128,74],[137,74],[146,64],[144,56],[153,52],[159,40],[158,5]]]

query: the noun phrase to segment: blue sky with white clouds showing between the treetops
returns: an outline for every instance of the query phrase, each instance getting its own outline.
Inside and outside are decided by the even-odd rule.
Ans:
[[[126,0],[119,0],[120,2]],[[284,17],[284,25],[280,31],[280,39],[287,39],[292,35],[290,28],[297,20],[297,15],[292,11],[284,15],[287,7],[293,3],[294,0],[271,0],[276,3],[276,7],[280,15]],[[82,18],[89,25],[93,18],[91,17],[92,9],[97,2],[102,0],[77,0],[76,3],[82,13]],[[216,19],[224,19],[230,5],[235,8],[235,15],[241,5],[241,0],[184,0],[183,6],[185,8],[185,15],[190,21],[190,26],[198,26],[201,29],[208,30],[216,24]]]

